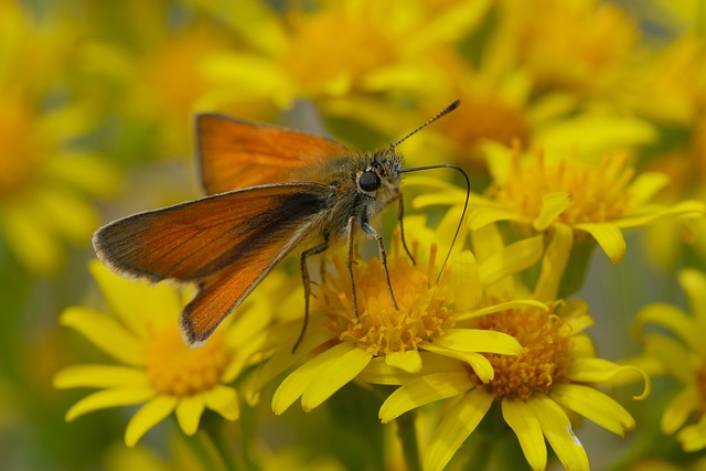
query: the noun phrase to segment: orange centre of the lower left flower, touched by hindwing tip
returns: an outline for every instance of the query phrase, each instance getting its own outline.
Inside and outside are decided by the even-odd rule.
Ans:
[[[228,364],[223,336],[216,332],[200,347],[184,344],[176,329],[158,332],[147,347],[147,374],[157,390],[191,396],[215,386]]]

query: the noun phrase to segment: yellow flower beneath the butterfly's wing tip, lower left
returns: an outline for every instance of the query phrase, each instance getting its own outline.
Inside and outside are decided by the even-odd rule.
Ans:
[[[100,389],[76,403],[66,413],[66,420],[98,409],[143,403],[125,433],[126,443],[132,447],[172,413],[186,435],[196,432],[206,408],[228,420],[237,419],[237,394],[227,383],[259,347],[268,315],[245,308],[205,345],[191,349],[179,333],[176,320],[184,300],[174,288],[125,280],[97,260],[90,264],[90,271],[117,317],[73,307],[62,313],[61,323],[81,332],[118,364],[74,365],[56,374],[57,388]]]

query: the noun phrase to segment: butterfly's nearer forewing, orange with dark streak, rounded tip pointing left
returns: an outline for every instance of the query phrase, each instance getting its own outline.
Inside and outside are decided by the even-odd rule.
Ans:
[[[265,185],[139,213],[100,228],[98,257],[114,271],[152,281],[200,281],[228,267],[264,270],[271,251],[323,210],[330,189]]]

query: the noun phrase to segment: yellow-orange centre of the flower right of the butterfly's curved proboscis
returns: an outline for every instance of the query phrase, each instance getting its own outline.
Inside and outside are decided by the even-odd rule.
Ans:
[[[567,192],[571,203],[560,214],[566,224],[598,223],[620,218],[629,204],[627,188],[634,171],[625,156],[609,156],[600,167],[563,160],[547,163],[544,156],[522,159],[513,149],[513,165],[503,186],[491,190],[494,200],[530,217],[539,215],[544,195]]]

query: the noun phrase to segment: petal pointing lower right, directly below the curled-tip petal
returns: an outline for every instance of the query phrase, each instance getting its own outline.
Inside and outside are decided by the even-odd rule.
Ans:
[[[635,420],[620,404],[592,387],[558,384],[552,387],[549,397],[621,437],[635,428]]]

